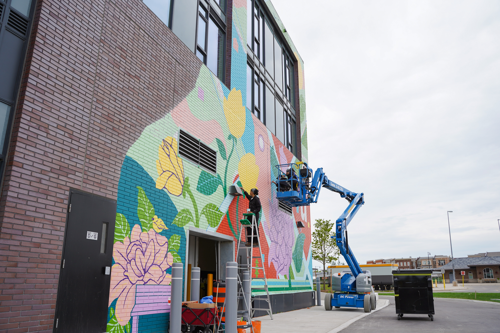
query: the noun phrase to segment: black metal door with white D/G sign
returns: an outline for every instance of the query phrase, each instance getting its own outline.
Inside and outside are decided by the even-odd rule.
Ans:
[[[116,202],[71,190],[54,332],[106,332]]]

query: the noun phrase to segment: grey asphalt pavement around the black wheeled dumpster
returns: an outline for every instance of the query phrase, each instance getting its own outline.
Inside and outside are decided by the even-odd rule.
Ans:
[[[389,305],[352,323],[340,333],[499,332],[500,305],[497,304],[434,299],[433,322],[427,315],[404,315],[398,321],[394,298],[379,298],[389,300]]]

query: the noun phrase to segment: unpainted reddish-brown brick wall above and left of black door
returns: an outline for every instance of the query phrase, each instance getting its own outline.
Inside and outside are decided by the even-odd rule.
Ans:
[[[116,199],[129,146],[200,61],[139,0],[36,4],[0,210],[0,332],[51,332],[69,187]]]

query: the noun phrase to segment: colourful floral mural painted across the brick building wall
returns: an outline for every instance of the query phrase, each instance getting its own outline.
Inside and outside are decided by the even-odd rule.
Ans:
[[[202,66],[195,88],[144,129],[123,161],[107,332],[156,332],[159,326],[165,327],[171,265],[181,262],[185,267],[189,226],[239,237],[238,221],[248,201],[228,194],[231,185],[259,190],[260,260],[269,292],[312,289],[309,207],[296,208],[291,216],[282,212],[271,184],[277,177],[275,165],[298,160],[244,106],[246,1],[233,1],[232,12],[231,89]],[[305,161],[302,66],[300,60],[300,133]],[[179,128],[217,151],[216,174],[177,155]],[[306,227],[297,229],[297,220],[305,221]]]

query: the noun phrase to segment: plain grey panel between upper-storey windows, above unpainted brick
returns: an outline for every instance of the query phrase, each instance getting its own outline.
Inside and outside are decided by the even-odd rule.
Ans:
[[[196,0],[181,0],[173,3],[172,32],[193,52],[197,12]]]

